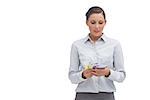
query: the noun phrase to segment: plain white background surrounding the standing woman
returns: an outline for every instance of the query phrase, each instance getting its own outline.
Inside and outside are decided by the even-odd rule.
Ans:
[[[116,100],[149,100],[149,0],[1,0],[0,100],[73,100],[70,47],[88,34],[85,13],[106,12],[104,33],[120,41],[127,73]]]

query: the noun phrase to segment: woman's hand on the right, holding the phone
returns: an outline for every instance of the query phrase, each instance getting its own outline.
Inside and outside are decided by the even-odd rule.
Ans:
[[[108,67],[106,68],[95,68],[92,72],[95,76],[107,76],[110,73],[110,69]]]

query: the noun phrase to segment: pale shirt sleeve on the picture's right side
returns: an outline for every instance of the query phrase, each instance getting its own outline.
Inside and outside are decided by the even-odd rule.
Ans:
[[[126,77],[126,72],[124,69],[122,48],[119,42],[114,48],[113,60],[114,69],[110,69],[111,74],[108,77],[108,79],[117,82],[122,82]]]

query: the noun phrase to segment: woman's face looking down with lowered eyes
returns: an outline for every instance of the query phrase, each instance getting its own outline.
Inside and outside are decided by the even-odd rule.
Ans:
[[[90,15],[86,24],[89,27],[90,35],[92,37],[100,37],[106,21],[101,13],[94,13]]]

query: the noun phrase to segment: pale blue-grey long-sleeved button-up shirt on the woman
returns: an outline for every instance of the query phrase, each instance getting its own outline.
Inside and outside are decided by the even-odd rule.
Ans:
[[[103,34],[95,43],[89,36],[72,44],[70,54],[69,79],[78,84],[76,92],[115,92],[113,81],[122,82],[125,79],[124,60],[121,45],[117,40]],[[110,76],[92,76],[82,78],[84,67],[98,63],[110,68]]]

